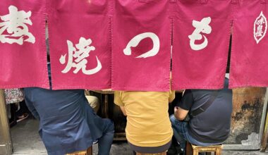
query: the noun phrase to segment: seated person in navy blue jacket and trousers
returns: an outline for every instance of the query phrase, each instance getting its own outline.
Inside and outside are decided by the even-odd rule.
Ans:
[[[50,76],[50,74],[49,74]],[[25,102],[40,120],[39,135],[49,155],[83,151],[98,140],[100,155],[109,155],[114,124],[96,115],[83,89],[24,89]]]

